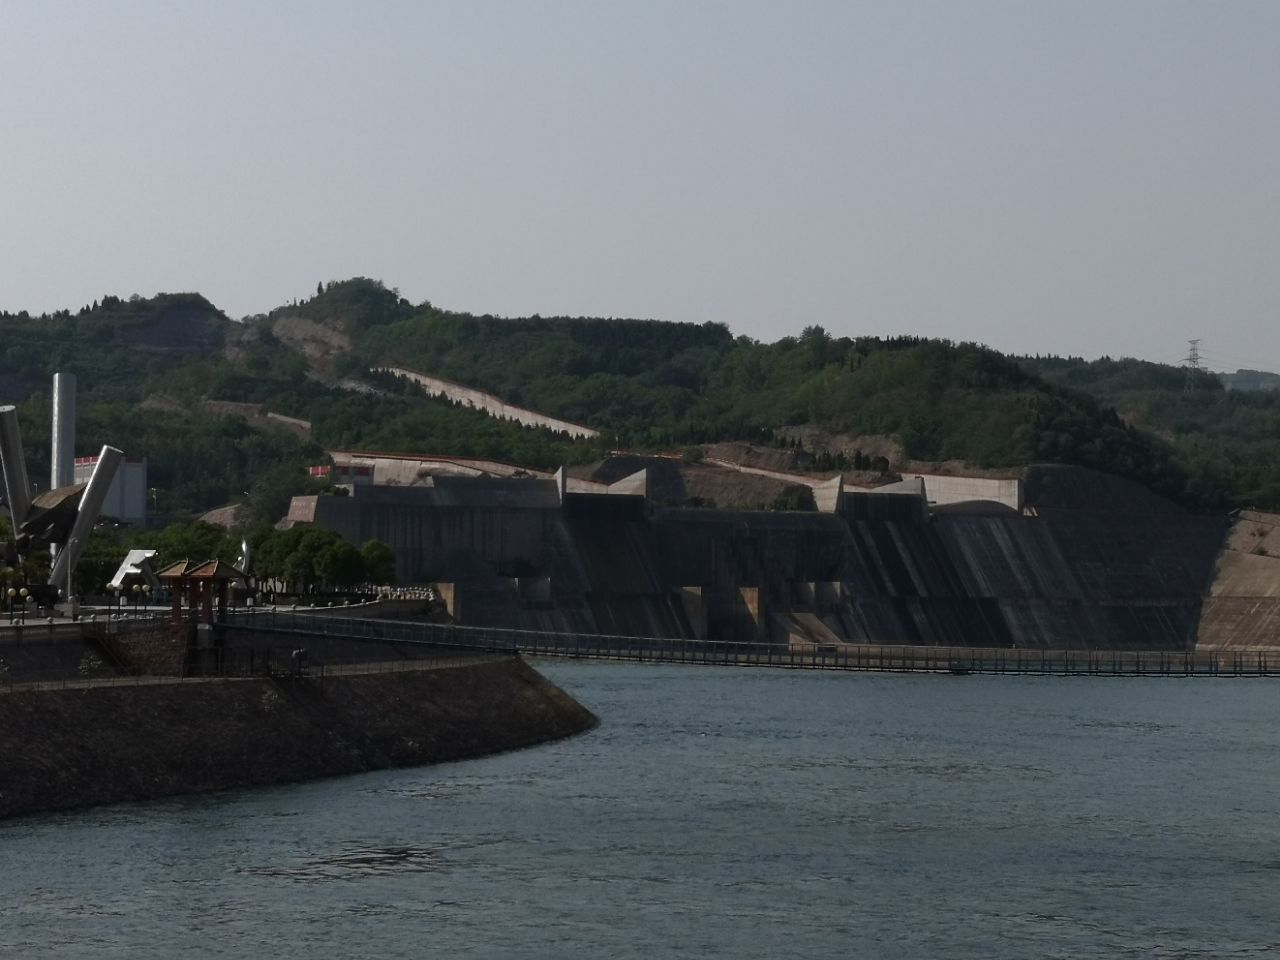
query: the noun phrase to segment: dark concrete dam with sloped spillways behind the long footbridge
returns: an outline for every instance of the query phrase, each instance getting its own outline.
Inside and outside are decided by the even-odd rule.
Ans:
[[[1024,484],[1021,511],[842,490],[810,513],[435,477],[297,498],[291,517],[390,544],[398,579],[438,584],[462,625],[792,649],[1196,646],[1225,515],[1078,467]]]

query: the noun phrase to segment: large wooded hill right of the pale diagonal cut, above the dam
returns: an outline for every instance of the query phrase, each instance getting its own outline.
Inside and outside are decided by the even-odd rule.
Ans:
[[[394,312],[346,328],[351,369],[396,364],[479,387],[623,447],[768,443],[778,428],[810,424],[892,436],[913,460],[1078,463],[1199,494],[1169,444],[975,344],[833,338],[820,326],[759,343],[719,324]]]

